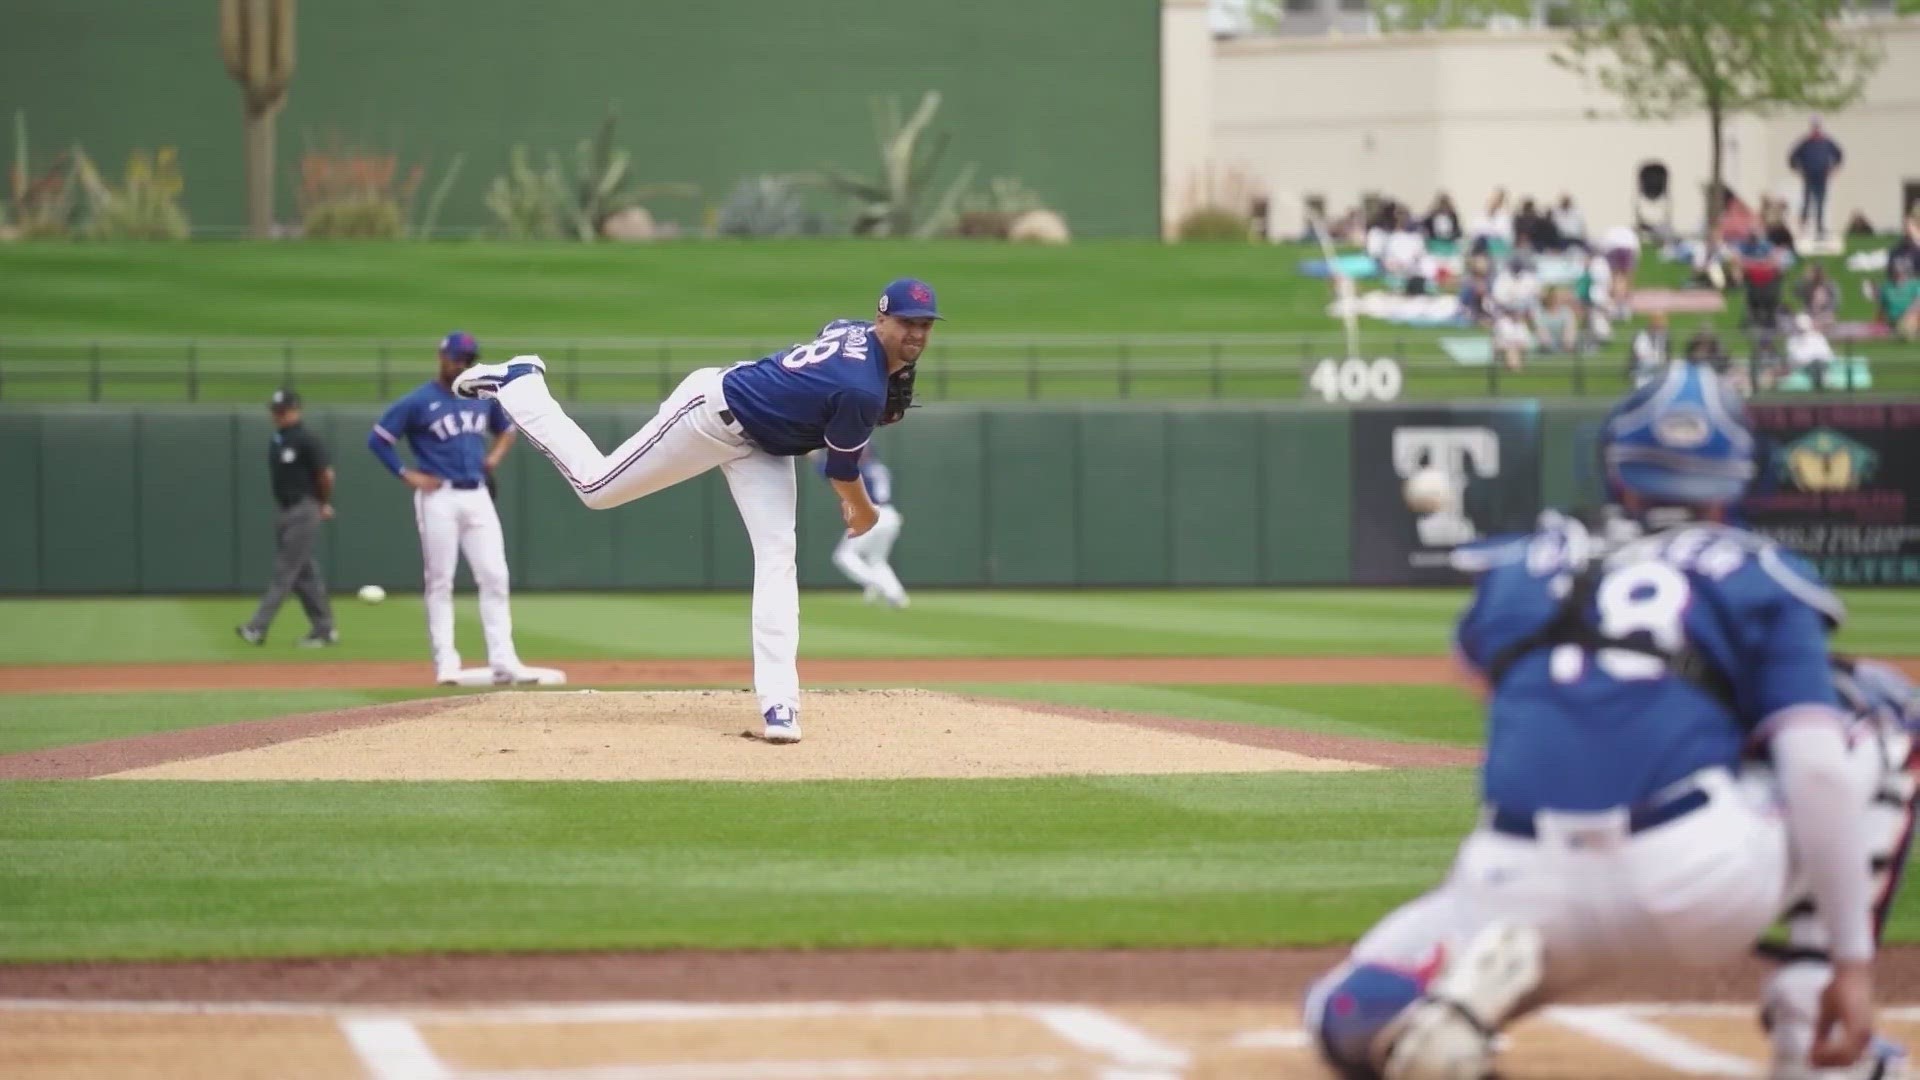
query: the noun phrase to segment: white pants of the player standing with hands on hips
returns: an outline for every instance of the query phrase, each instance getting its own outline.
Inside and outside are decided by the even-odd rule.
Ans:
[[[480,588],[480,626],[486,632],[486,659],[493,671],[516,671],[513,650],[513,605],[507,600],[507,540],[499,513],[486,488],[442,486],[413,492],[413,521],[420,528],[420,567],[426,577],[426,640],[434,650],[438,675],[459,673],[461,653],[453,648],[453,571],[467,553],[467,569]]]

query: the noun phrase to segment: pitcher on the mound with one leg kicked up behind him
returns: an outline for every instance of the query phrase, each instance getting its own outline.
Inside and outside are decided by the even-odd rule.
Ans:
[[[753,688],[764,736],[799,742],[793,459],[826,450],[847,534],[874,528],[879,509],[860,482],[860,452],[877,425],[904,415],[914,361],[939,317],[931,286],[895,281],[881,290],[872,323],[833,321],[810,342],[687,375],[612,454],[601,454],[553,400],[547,365],[538,356],[472,367],[453,380],[453,390],[505,407],[593,509],[634,502],[708,469],[726,475],[753,542]]]

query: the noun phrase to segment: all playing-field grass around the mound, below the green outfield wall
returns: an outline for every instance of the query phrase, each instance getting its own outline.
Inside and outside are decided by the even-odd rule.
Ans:
[[[922,592],[895,613],[808,594],[804,653],[1436,653],[1459,600]],[[1845,644],[1920,653],[1920,594],[1847,600]],[[411,598],[346,607],[348,644],[323,655],[240,646],[230,625],[246,609],[242,598],[0,601],[0,665],[422,650]],[[745,596],[520,596],[515,615],[530,657],[730,657],[743,650]],[[1476,705],[1450,686],[952,690],[1346,736],[1480,738]],[[409,696],[12,694],[0,696],[0,753]],[[0,961],[1329,944],[1438,880],[1473,821],[1473,792],[1467,769],[816,784],[0,782]],[[1903,903],[1889,934],[1920,942],[1920,909]]]

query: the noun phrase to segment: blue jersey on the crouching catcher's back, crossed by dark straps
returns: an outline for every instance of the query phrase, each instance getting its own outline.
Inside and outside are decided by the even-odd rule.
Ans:
[[[1555,617],[1588,540],[1574,523],[1490,546],[1455,644],[1482,675]],[[1463,565],[1467,561],[1463,559]],[[1845,615],[1776,544],[1722,525],[1630,540],[1603,561],[1588,626],[1665,651],[1692,648],[1732,703],[1655,655],[1546,646],[1513,661],[1488,703],[1482,792],[1515,811],[1599,811],[1732,769],[1768,717],[1836,705],[1826,632]]]

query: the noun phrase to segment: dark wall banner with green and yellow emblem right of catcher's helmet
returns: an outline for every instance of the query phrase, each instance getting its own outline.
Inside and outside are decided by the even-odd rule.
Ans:
[[[1759,480],[1743,525],[1828,584],[1920,586],[1920,405],[1749,405]]]

